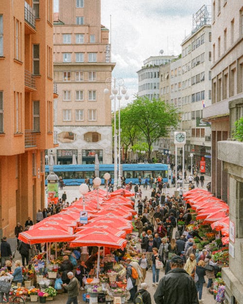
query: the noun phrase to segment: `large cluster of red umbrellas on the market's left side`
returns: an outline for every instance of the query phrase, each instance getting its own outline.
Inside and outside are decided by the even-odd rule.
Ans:
[[[130,220],[136,214],[132,208],[133,202],[126,197],[132,195],[134,193],[120,189],[116,195],[113,192],[112,197],[106,199],[106,191],[100,189],[101,210],[97,210],[97,190],[89,192],[85,195],[85,202],[82,198],[79,199],[57,215],[52,215],[31,226],[28,231],[19,233],[18,238],[29,244],[67,241],[71,242],[70,247],[123,248],[126,245],[125,234],[132,232]],[[89,224],[78,228],[80,212],[84,206],[85,211],[88,211]]]

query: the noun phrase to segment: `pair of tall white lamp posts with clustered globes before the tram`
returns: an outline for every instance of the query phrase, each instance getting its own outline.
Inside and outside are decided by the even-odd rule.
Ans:
[[[125,100],[129,99],[126,94],[126,88],[124,86],[124,80],[122,78],[107,78],[105,81],[106,85],[111,85],[110,100],[114,99],[114,190],[117,190],[117,186],[121,188],[121,120],[120,120],[120,101],[122,95],[125,95]],[[109,93],[109,89],[105,88],[104,93]],[[122,94],[122,95],[121,95]],[[119,101],[118,104],[118,154],[117,154],[117,129],[116,129],[116,98]],[[117,174],[117,158],[118,158],[118,174]]]

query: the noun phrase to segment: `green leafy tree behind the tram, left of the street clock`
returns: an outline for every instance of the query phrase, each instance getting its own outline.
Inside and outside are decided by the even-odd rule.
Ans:
[[[135,128],[135,138],[143,138],[148,144],[148,156],[151,158],[152,145],[161,137],[168,137],[172,127],[176,127],[180,113],[173,105],[160,99],[137,97],[126,109],[124,128]],[[126,123],[125,123],[126,122]],[[126,125],[127,124],[127,125]]]

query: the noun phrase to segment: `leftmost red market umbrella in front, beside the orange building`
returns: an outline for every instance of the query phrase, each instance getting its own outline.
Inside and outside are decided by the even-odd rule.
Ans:
[[[56,227],[43,225],[32,230],[20,232],[18,239],[28,244],[37,244],[43,242],[70,242],[75,239],[71,227],[69,232]]]

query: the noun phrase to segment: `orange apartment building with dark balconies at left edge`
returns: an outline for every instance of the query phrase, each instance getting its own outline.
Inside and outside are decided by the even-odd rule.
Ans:
[[[0,1],[0,236],[45,203],[53,147],[52,0]]]

